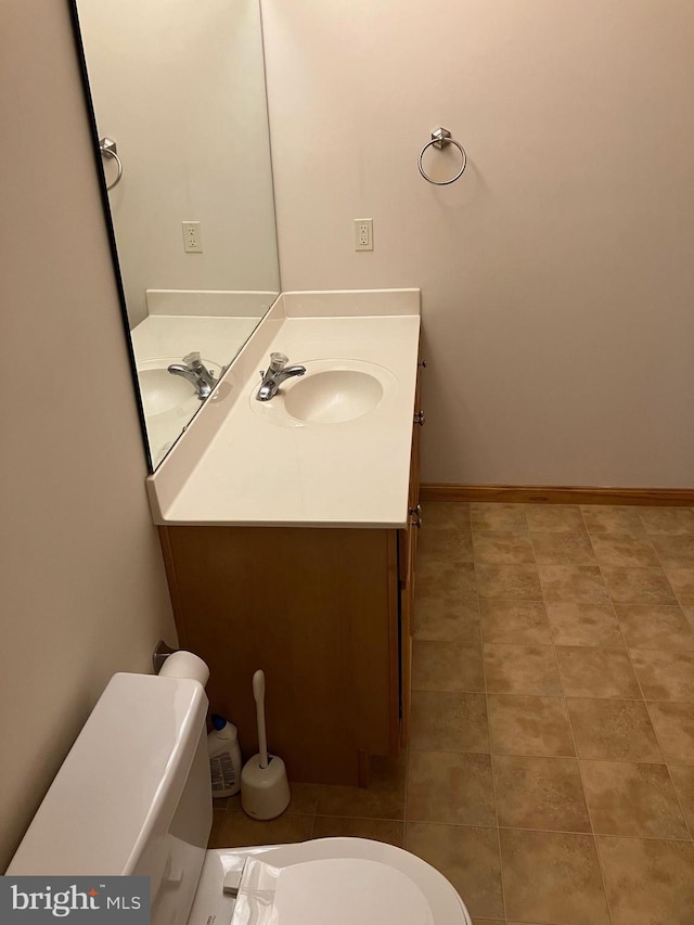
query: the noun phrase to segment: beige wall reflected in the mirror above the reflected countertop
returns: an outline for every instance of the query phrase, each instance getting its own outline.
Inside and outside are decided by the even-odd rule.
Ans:
[[[131,326],[146,288],[279,288],[258,0],[78,8],[99,134],[124,163],[110,202]]]

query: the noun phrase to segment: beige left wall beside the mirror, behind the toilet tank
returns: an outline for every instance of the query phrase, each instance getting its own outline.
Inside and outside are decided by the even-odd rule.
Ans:
[[[67,3],[5,0],[0,34],[3,871],[107,679],[175,630]]]

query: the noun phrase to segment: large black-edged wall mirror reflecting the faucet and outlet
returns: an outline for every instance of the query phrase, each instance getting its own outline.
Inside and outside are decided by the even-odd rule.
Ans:
[[[74,14],[154,470],[280,291],[259,0]]]

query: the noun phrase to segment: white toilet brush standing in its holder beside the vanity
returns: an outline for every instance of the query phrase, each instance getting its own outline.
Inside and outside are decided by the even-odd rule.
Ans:
[[[253,696],[258,721],[258,754],[243,766],[241,772],[241,808],[253,819],[274,819],[290,805],[290,784],[284,761],[268,755],[265,728],[265,672],[253,676]]]

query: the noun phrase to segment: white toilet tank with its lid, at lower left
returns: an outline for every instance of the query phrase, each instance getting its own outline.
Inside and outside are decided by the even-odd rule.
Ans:
[[[114,675],[7,873],[146,875],[153,925],[188,920],[211,827],[197,681]]]

